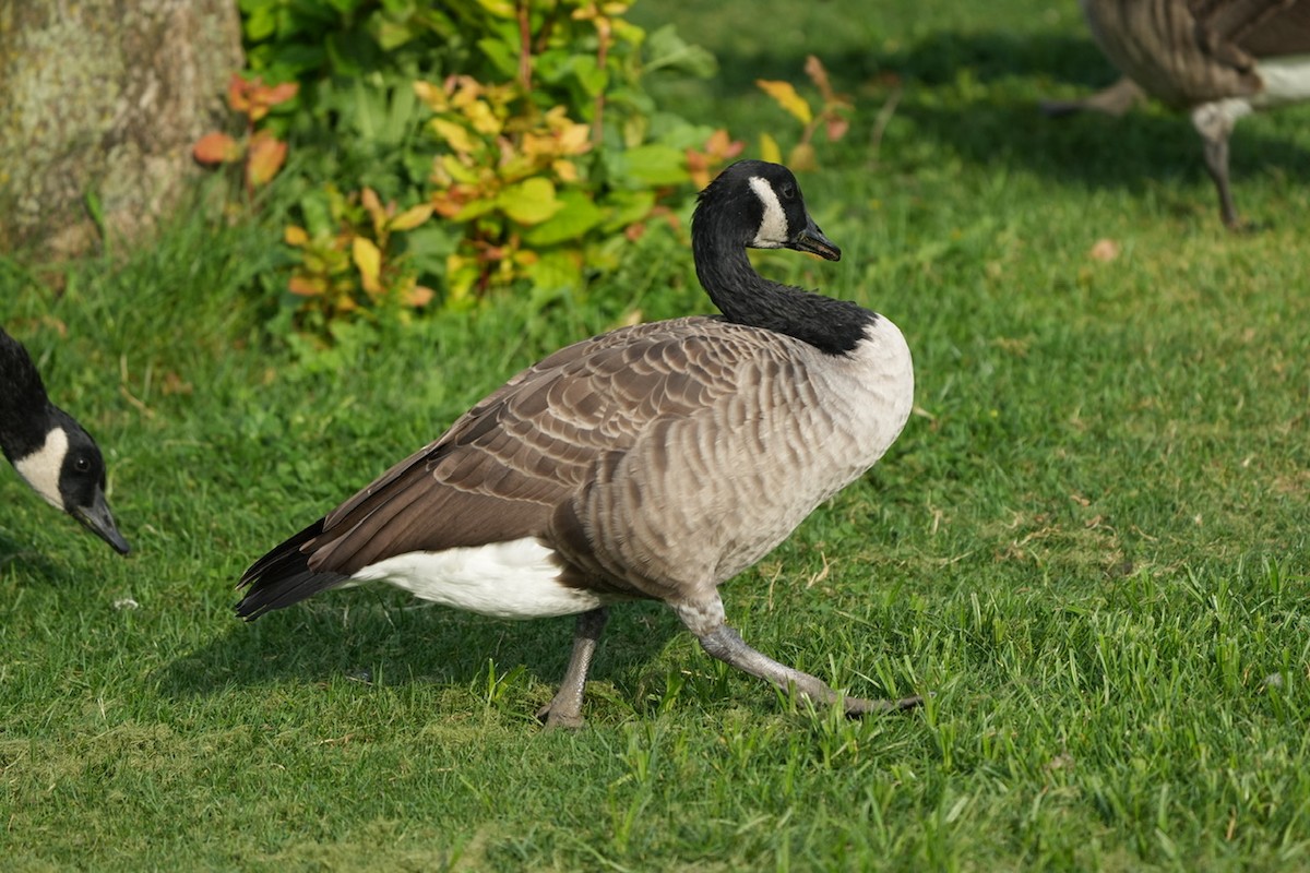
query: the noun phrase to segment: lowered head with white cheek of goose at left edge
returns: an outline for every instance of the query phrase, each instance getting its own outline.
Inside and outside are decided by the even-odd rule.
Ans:
[[[55,406],[48,410],[45,442],[24,457],[12,457],[14,470],[46,503],[126,555],[130,546],[118,533],[105,499],[105,458],[100,446],[71,415]]]

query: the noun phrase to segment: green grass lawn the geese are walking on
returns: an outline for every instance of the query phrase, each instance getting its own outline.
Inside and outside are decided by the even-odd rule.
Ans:
[[[709,301],[669,243],[572,301],[305,361],[250,291],[275,223],[179,219],[54,280],[0,262],[0,322],[105,448],[134,546],[0,471],[7,869],[1310,868],[1307,110],[1238,127],[1263,228],[1234,236],[1184,118],[1036,113],[1114,79],[1073,3],[706,5],[637,9],[719,56],[663,93],[685,115],[786,145],[753,80],[811,51],[855,99],[800,178],[842,260],[757,262],[892,318],[918,378],[728,616],[927,705],[798,708],[634,605],[587,725],[544,733],[571,619],[363,589],[240,623],[250,560],[517,368]]]

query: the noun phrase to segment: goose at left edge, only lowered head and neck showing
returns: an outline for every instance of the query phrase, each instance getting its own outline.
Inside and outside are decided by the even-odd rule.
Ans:
[[[119,554],[128,551],[105,501],[105,459],[90,435],[50,402],[41,373],[0,330],[0,450],[18,475]]]

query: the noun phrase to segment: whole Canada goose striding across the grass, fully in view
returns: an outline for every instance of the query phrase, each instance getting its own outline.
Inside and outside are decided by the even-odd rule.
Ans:
[[[607,607],[634,598],[664,601],[711,656],[803,698],[852,715],[917,704],[844,698],[724,623],[719,584],[882,457],[914,382],[895,325],[764,279],[747,247],[841,257],[786,168],[734,164],[692,221],[722,317],[620,329],[523,370],[257,560],[237,613],[379,580],[485,615],[579,614],[537,713],[548,726],[582,724]]]

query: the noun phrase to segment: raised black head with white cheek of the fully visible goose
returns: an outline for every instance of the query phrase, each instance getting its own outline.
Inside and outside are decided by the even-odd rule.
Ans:
[[[701,191],[692,221],[701,233],[724,242],[841,259],[841,249],[810,217],[796,177],[779,164],[732,164]]]

